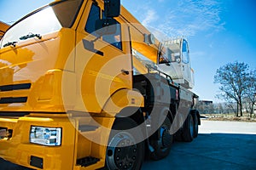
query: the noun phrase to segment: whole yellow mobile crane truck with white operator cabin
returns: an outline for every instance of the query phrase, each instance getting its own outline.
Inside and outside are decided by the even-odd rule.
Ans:
[[[0,157],[32,169],[140,169],[145,152],[160,160],[173,137],[192,141],[197,96],[183,70],[170,71],[183,42],[158,42],[119,0],[27,14],[0,42]]]

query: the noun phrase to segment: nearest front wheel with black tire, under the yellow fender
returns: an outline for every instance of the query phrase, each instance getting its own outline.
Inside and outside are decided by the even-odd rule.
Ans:
[[[108,140],[106,163],[103,169],[118,170],[141,169],[144,161],[144,142],[137,144],[137,136],[142,136],[142,131],[131,133],[129,129],[137,127],[131,118],[117,118]]]

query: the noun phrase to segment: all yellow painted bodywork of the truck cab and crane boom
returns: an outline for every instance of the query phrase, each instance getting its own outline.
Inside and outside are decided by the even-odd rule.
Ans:
[[[10,139],[0,139],[3,159],[31,168],[36,167],[30,165],[30,156],[43,158],[44,169],[104,167],[115,116],[127,107],[143,107],[143,95],[132,90],[132,66],[140,64],[132,64],[131,45],[156,62],[158,42],[143,42],[143,34],[150,32],[122,7],[116,20],[124,24],[123,50],[101,39],[95,42],[95,48],[101,49],[104,56],[86,50],[82,41],[96,38],[84,31],[91,3],[84,0],[71,28],[0,49],[0,87],[32,84],[29,89],[0,90],[0,99],[27,97],[26,103],[0,104],[0,113],[27,113],[21,117],[0,116],[0,127],[13,130]],[[103,8],[103,2],[98,3]],[[129,71],[129,75],[122,70]],[[91,120],[101,126],[80,132],[79,126],[90,125]],[[61,127],[61,146],[31,144],[31,126]],[[101,144],[90,139],[95,137],[101,137],[96,139]],[[87,156],[100,161],[89,167],[77,165],[78,159]]]

